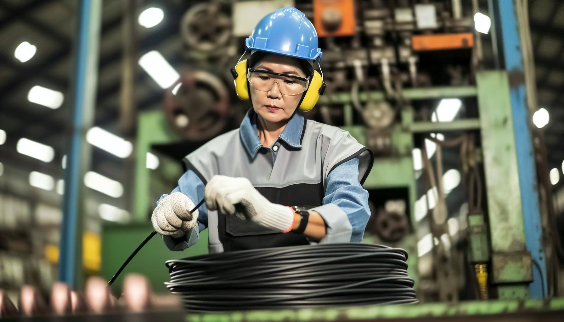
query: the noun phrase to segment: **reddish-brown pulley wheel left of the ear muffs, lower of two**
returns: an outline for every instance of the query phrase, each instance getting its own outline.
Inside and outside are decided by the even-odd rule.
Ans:
[[[229,91],[209,72],[186,73],[166,92],[164,109],[169,122],[184,138],[206,140],[226,126]]]

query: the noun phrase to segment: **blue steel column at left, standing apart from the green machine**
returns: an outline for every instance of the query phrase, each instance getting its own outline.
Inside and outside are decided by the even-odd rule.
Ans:
[[[81,0],[72,74],[72,134],[67,153],[63,224],[59,246],[59,280],[72,287],[82,284],[82,215],[84,174],[90,165],[86,131],[92,126],[98,80],[98,45],[102,1]]]

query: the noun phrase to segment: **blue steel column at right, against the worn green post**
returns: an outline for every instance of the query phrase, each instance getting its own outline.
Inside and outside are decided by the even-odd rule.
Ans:
[[[513,111],[513,127],[515,146],[517,148],[517,166],[519,171],[519,188],[523,206],[523,224],[527,239],[527,250],[531,252],[534,281],[530,285],[532,298],[543,297],[547,292],[547,266],[543,249],[543,231],[540,218],[539,192],[535,167],[535,152],[532,147],[531,131],[528,120],[531,115],[527,109],[527,92],[525,90],[525,71],[521,38],[519,37],[519,21],[515,0],[498,0],[499,15],[496,19],[501,24],[501,46],[503,47],[505,69],[509,74],[510,98]],[[526,21],[525,23],[528,23]],[[542,279],[541,279],[542,274]],[[544,281],[544,285],[542,283]]]

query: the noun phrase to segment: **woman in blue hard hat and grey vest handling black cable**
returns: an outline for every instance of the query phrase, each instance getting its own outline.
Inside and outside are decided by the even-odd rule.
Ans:
[[[153,227],[170,250],[195,244],[207,227],[210,253],[359,242],[370,217],[362,183],[372,152],[347,131],[296,113],[313,108],[325,88],[314,71],[321,50],[313,24],[281,8],[245,45],[250,58],[232,73],[252,108],[239,129],[184,158],[188,170],[161,197]]]

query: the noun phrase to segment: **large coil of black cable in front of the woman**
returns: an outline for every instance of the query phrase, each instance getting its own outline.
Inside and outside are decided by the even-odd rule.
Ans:
[[[200,255],[166,262],[192,311],[417,303],[407,252],[323,244]]]

